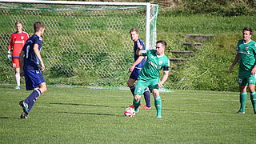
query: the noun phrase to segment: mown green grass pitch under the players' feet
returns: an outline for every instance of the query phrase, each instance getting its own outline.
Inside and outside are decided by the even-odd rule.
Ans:
[[[122,115],[132,101],[129,90],[50,87],[29,118],[20,119],[18,102],[30,91],[12,87],[0,86],[0,143],[254,143],[256,115],[249,98],[246,114],[235,114],[234,92],[161,93],[157,119],[154,108]]]

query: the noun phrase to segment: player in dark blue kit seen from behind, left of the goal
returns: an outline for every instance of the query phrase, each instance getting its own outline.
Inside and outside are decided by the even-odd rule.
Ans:
[[[19,102],[23,110],[21,118],[27,118],[34,102],[42,93],[46,92],[46,81],[42,77],[45,65],[40,54],[42,50],[41,36],[44,30],[45,25],[42,22],[35,22],[34,35],[26,41],[20,54],[21,75],[24,74],[26,90],[34,90],[25,100]]]

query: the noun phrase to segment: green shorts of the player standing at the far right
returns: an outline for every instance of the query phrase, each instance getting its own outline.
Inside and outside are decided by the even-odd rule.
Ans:
[[[256,75],[250,74],[250,71],[239,71],[238,83],[239,86],[247,86],[248,84],[255,85]]]

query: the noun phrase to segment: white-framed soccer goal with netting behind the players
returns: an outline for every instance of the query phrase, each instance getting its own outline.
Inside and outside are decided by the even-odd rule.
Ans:
[[[33,34],[44,22],[42,58],[50,85],[126,86],[133,62],[129,30],[138,28],[146,48],[154,48],[158,5],[148,2],[0,0],[0,83],[14,83],[6,60],[14,23]]]

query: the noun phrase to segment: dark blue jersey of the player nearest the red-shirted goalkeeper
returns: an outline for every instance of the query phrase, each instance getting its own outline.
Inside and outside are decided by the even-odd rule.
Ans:
[[[42,38],[36,34],[26,40],[26,44],[23,46],[22,51],[25,52],[24,70],[40,70],[39,59],[34,53],[34,44],[38,44],[39,51],[42,50]]]

